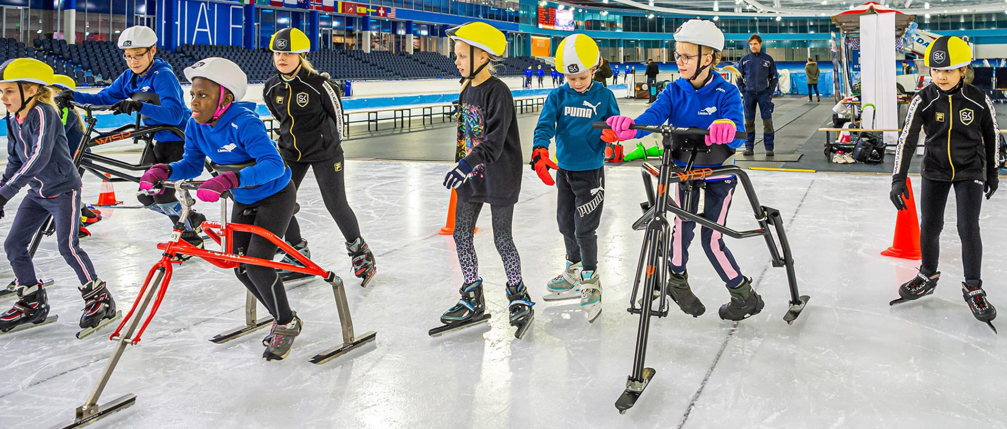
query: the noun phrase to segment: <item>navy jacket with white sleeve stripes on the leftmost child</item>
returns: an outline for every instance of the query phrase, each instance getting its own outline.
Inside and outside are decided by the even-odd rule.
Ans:
[[[81,187],[55,108],[37,103],[21,120],[7,117],[7,168],[0,177],[0,195],[10,199],[27,185],[38,196],[51,198]]]

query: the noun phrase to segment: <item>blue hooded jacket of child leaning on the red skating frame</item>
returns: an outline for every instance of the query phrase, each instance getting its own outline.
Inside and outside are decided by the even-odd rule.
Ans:
[[[238,172],[242,188],[232,189],[235,200],[251,204],[282,190],[290,182],[290,168],[280,157],[276,142],[269,138],[255,108],[255,103],[235,103],[212,127],[189,119],[185,126],[185,154],[181,161],[169,164],[168,178],[198,177],[206,157],[218,164],[255,160],[255,165]]]

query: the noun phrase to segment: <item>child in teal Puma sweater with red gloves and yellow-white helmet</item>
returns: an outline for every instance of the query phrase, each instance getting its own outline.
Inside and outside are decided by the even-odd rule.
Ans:
[[[605,198],[605,135],[592,128],[619,114],[611,90],[592,80],[601,54],[594,39],[584,34],[568,36],[556,49],[556,65],[567,85],[549,93],[535,127],[532,169],[542,181],[556,184],[559,195],[556,219],[566,245],[566,268],[546,283],[546,301],[580,298],[581,309],[593,322],[601,313],[601,280],[598,278],[598,238]],[[556,159],[549,157],[549,142],[556,139]],[[613,141],[609,138],[608,141]],[[556,169],[556,180],[549,169]]]

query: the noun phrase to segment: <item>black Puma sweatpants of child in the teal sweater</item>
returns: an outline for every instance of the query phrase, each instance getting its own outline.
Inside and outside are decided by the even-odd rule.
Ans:
[[[598,236],[605,200],[605,167],[587,171],[556,170],[556,222],[566,245],[567,261],[584,270],[598,269]]]

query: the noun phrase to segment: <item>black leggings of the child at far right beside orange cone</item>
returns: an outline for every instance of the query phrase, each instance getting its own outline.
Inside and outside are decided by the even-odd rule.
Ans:
[[[975,180],[937,181],[922,180],[919,191],[919,248],[924,275],[938,271],[941,257],[941,231],[944,230],[944,211],[948,194],[955,187],[958,206],[958,237],[962,240],[962,266],[966,280],[982,280],[983,241],[979,236],[979,211],[983,206],[983,183]]]

